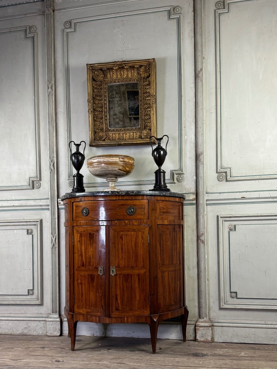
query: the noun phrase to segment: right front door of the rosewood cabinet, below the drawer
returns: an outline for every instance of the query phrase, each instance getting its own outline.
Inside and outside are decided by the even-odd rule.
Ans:
[[[110,227],[110,266],[110,316],[148,315],[148,225]]]

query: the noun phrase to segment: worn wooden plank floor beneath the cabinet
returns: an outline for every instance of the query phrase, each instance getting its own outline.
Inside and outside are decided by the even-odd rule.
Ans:
[[[0,335],[0,369],[277,369],[277,345]]]

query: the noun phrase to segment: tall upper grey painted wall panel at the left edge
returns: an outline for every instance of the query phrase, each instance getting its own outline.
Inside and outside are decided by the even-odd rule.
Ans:
[[[28,6],[31,7],[25,4],[27,14]],[[7,85],[11,95],[10,101],[5,100],[6,103],[1,105],[0,112],[1,137],[4,137],[0,149],[7,163],[0,180],[0,200],[47,199],[49,158],[44,15],[13,17],[16,7],[8,7],[9,17],[0,17],[0,39],[3,37],[4,42],[6,36],[14,35],[11,44],[7,42],[3,46],[8,52],[1,54],[1,85]],[[3,8],[0,10],[2,15]],[[3,90],[1,94],[7,97],[7,88]]]

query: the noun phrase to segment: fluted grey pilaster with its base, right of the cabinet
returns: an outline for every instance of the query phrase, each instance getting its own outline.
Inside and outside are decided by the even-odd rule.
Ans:
[[[196,118],[196,211],[198,249],[199,319],[196,340],[211,341],[209,321],[208,265],[206,243],[205,183],[205,74],[204,74],[204,0],[194,1],[195,16],[195,118]]]

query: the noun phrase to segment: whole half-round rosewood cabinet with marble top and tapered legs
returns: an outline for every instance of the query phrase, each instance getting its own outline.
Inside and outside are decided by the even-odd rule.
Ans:
[[[181,315],[186,340],[183,199],[148,191],[61,197],[72,351],[78,321],[147,323],[155,354],[159,323]]]

